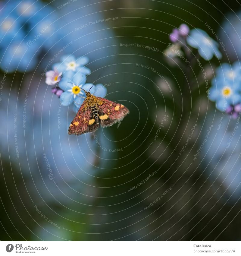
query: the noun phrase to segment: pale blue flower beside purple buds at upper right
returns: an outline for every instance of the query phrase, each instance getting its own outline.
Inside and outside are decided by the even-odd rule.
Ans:
[[[217,58],[222,57],[221,52],[218,50],[218,43],[199,28],[191,30],[186,40],[190,46],[198,49],[200,56],[205,60],[210,60],[213,55]]]

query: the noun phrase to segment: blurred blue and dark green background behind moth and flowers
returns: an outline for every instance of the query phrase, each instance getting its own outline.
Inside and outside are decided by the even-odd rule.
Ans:
[[[169,34],[182,23],[215,39],[207,22],[227,49],[220,47],[221,60],[202,60],[210,82],[220,61],[241,58],[240,1],[5,4],[1,1],[0,239],[240,240],[240,127],[227,149],[236,120],[208,100],[197,63],[183,68],[164,54]],[[29,4],[31,12],[23,18],[17,11]],[[8,13],[15,21],[10,35],[3,27]],[[44,23],[49,31],[26,47]],[[16,53],[14,44],[20,43]],[[88,56],[87,82],[105,84],[106,97],[130,109],[121,124],[100,128],[95,137],[67,134],[75,113],[59,107],[43,74],[66,54]]]

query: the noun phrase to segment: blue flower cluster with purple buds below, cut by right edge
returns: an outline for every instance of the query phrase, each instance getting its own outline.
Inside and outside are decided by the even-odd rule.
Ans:
[[[233,65],[224,63],[216,69],[209,99],[216,103],[216,108],[220,111],[237,116],[241,106],[241,65],[239,61]]]

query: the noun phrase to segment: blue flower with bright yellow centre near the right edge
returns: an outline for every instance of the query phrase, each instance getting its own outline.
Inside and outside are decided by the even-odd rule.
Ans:
[[[209,90],[209,99],[216,102],[216,108],[225,111],[229,106],[241,102],[241,84],[233,84],[222,78],[214,78]]]

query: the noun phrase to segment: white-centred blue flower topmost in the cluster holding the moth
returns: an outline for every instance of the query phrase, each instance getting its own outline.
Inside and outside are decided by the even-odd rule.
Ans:
[[[90,74],[89,68],[84,67],[88,63],[89,59],[87,57],[80,57],[76,59],[74,55],[64,55],[61,58],[61,62],[55,63],[53,65],[59,72],[80,71],[83,74]]]

